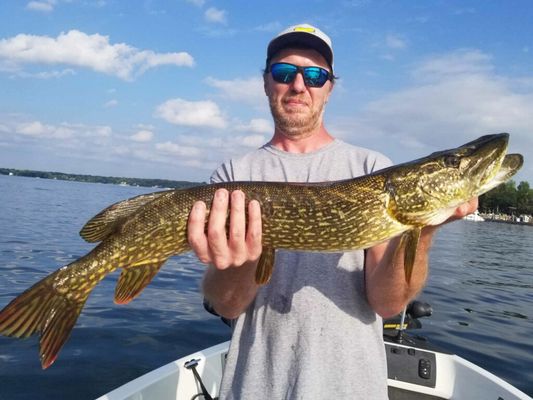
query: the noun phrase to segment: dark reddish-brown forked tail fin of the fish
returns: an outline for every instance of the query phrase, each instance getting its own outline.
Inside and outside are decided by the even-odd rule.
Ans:
[[[56,360],[80,315],[90,291],[77,297],[60,292],[55,282],[58,270],[37,282],[0,311],[0,334],[26,338],[40,332],[43,369]]]

